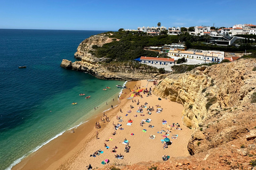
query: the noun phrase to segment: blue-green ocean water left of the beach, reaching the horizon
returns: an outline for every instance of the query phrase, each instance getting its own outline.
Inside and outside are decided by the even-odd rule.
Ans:
[[[60,67],[63,58],[76,61],[78,45],[101,32],[0,29],[0,169],[11,169],[117,99],[115,85],[125,82]]]

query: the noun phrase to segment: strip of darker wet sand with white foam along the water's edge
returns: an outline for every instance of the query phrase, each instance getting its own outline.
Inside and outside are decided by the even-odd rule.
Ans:
[[[132,84],[133,86],[134,82],[125,82],[123,85],[126,85],[126,87],[129,87],[129,84]],[[122,95],[122,91],[126,91],[127,94]],[[126,96],[129,94],[128,91],[129,91],[128,89],[121,89],[121,91],[118,93],[118,96],[119,97],[122,96],[126,98]],[[122,104],[121,99],[115,100],[113,103],[114,107],[118,107],[121,104]],[[22,157],[19,158],[21,159],[21,161],[18,164],[12,166],[11,169],[27,169],[28,167],[30,169],[46,169],[47,167],[52,165],[54,162],[61,160],[63,157],[65,157],[65,155],[67,155],[69,152],[74,150],[77,146],[81,145],[82,144],[81,142],[87,139],[86,137],[89,137],[89,135],[94,130],[95,121],[99,122],[100,117],[102,116],[102,113],[105,112],[107,114],[111,112],[111,110],[112,110],[111,107],[109,109],[101,109],[101,111],[97,112],[96,114],[93,114],[84,122],[74,126],[73,128],[70,128],[64,132],[61,132],[55,135],[55,137],[53,137],[52,139],[49,139],[50,141],[49,140],[46,141],[45,145],[43,145],[42,143],[41,146],[38,146],[39,148],[36,151],[33,151],[36,149],[35,148],[31,150],[29,155],[26,156],[25,158],[22,158]],[[98,131],[100,131],[105,127],[105,125],[102,125],[101,122],[100,124],[101,124],[101,128],[97,129]],[[75,133],[72,132],[73,129]]]

